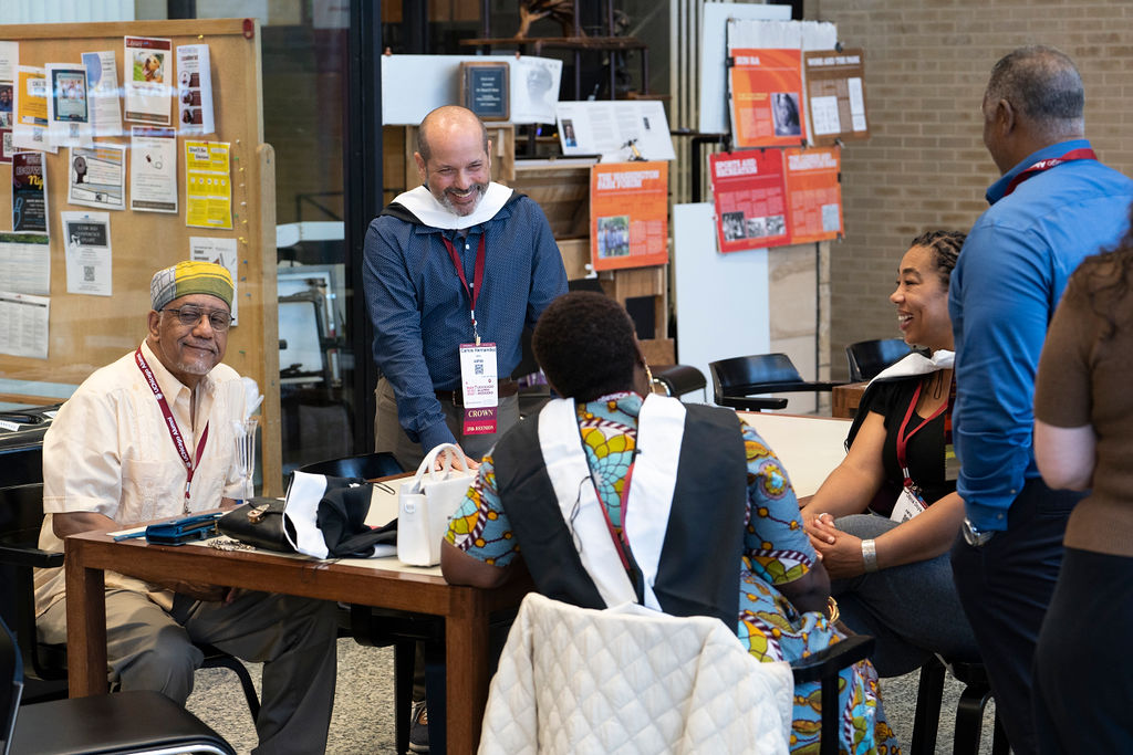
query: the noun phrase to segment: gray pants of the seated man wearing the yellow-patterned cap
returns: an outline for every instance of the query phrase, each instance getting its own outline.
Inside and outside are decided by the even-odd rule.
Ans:
[[[66,603],[40,617],[43,642],[67,642]],[[178,595],[167,614],[142,593],[107,591],[107,659],[122,689],[154,689],[184,705],[204,660],[194,642],[264,663],[259,755],[326,750],[337,632],[334,604],[308,598],[240,591],[223,606]]]

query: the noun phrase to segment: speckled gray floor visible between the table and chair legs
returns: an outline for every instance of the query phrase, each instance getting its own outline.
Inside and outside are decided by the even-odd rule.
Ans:
[[[257,685],[259,669],[250,664]],[[881,695],[889,724],[908,753],[917,704],[917,674],[883,679]],[[952,752],[956,700],[961,686],[951,677],[945,683],[940,733],[936,752]],[[991,752],[991,710],[983,718],[980,753]],[[224,669],[196,675],[189,710],[216,729],[240,753],[255,747],[256,733],[236,676]],[[332,755],[393,755],[393,651],[363,647],[350,640],[339,641],[339,681],[327,753]]]

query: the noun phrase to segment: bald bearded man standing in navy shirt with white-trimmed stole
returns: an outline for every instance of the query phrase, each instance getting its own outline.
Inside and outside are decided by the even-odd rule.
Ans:
[[[566,291],[539,206],[492,182],[492,143],[465,108],[417,131],[423,186],[369,225],[363,275],[381,371],[376,451],[406,469],[459,443],[478,461],[519,420],[520,335]]]

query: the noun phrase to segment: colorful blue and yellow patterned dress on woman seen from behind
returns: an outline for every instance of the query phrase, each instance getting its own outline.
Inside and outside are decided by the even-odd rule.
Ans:
[[[621,492],[637,441],[641,397],[632,393],[578,404],[579,429],[598,497],[615,527],[621,526]],[[775,589],[804,576],[816,561],[802,531],[799,504],[778,458],[749,426],[743,426],[748,455],[748,517],[740,568],[740,615],[736,634],[761,661],[792,661],[838,642],[826,616],[799,614]],[[449,524],[449,542],[475,558],[508,566],[520,550],[496,490],[492,457],[484,460],[476,482]],[[900,753],[878,697],[877,672],[862,661],[842,672],[841,750],[852,755]],[[794,689],[791,752],[818,753],[819,687]]]

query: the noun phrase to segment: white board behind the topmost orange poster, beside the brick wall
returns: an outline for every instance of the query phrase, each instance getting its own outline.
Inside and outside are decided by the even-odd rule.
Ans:
[[[727,19],[790,20],[791,6],[706,2],[700,24],[700,130],[727,132]]]

